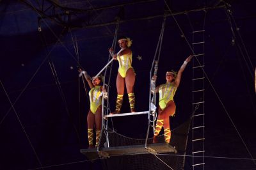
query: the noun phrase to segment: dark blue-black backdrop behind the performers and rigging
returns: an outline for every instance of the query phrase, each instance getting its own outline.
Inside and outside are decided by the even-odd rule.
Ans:
[[[134,2],[138,1],[52,1],[83,10]],[[166,2],[173,13],[224,4],[216,0]],[[205,19],[205,73],[214,87],[205,81],[205,156],[209,156],[205,158],[205,169],[256,169],[250,160],[256,157],[256,3],[253,0],[225,2],[231,4],[232,17],[236,21],[232,24],[237,26],[232,27],[235,35],[225,8],[207,10]],[[89,105],[77,66],[95,75],[106,65],[115,24],[95,25],[115,21],[120,7],[77,12],[69,22],[63,19],[60,24],[29,6],[40,9],[42,1],[0,1],[0,169],[102,169],[100,160],[92,164],[79,152],[88,147],[86,115]],[[49,1],[45,1],[45,8],[47,6],[51,6]],[[56,13],[63,12],[58,9],[56,7]],[[126,4],[122,10],[119,16],[124,22],[120,23],[118,36],[132,39],[136,108],[147,111],[149,72],[163,22],[163,17],[149,16],[163,15],[166,4],[164,1]],[[51,12],[52,8],[45,13],[52,16]],[[38,17],[42,17],[40,32]],[[196,12],[188,12],[188,15],[175,15],[175,19],[191,43],[189,20],[199,22],[200,17]],[[173,17],[167,17],[157,84],[164,83],[166,71],[179,70],[191,54],[181,35]],[[74,42],[77,42],[79,56],[74,50]],[[138,60],[138,56],[142,60]],[[57,86],[49,61],[54,64],[60,86]],[[117,68],[115,61],[109,91],[111,111],[115,108]],[[173,128],[191,116],[191,77],[189,63],[175,95],[177,115],[171,120]],[[127,97],[122,112],[129,112]],[[147,116],[113,121],[120,134],[140,139],[146,135]],[[191,155],[190,146],[191,143],[188,155]],[[191,157],[186,158],[185,164],[185,169],[192,168]]]

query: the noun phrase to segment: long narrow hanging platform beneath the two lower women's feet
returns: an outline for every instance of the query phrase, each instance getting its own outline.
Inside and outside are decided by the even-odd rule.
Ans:
[[[83,153],[87,158],[94,159],[99,157],[109,158],[113,156],[140,155],[148,153],[177,153],[177,150],[168,143],[154,143],[148,144],[147,148],[145,148],[145,144],[140,144],[100,148],[100,151],[97,151],[97,148],[81,149],[80,152]]]

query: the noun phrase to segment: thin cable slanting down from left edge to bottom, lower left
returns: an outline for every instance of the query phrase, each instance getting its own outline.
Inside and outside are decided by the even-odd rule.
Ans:
[[[16,111],[15,108],[14,108],[14,104],[13,104],[12,101],[10,100],[10,97],[9,97],[9,95],[8,95],[8,93],[7,93],[7,91],[6,91],[6,89],[4,88],[3,82],[2,82],[1,80],[0,80],[0,84],[1,84],[1,86],[3,87],[4,93],[5,93],[6,97],[8,98],[8,101],[9,101],[10,104],[12,105],[13,112],[15,112],[15,115],[16,115],[16,117],[17,117],[17,120],[19,121],[20,126],[22,127],[22,130],[23,130],[24,134],[26,135],[26,138],[28,139],[28,142],[29,142],[29,144],[30,144],[30,146],[31,146],[31,148],[32,148],[32,150],[33,150],[33,152],[34,152],[34,154],[35,154],[36,160],[37,160],[38,163],[40,164],[40,169],[44,169],[44,168],[42,167],[42,162],[40,161],[40,158],[38,157],[38,155],[37,155],[37,153],[36,153],[36,150],[35,150],[33,144],[31,143],[31,141],[30,141],[30,139],[29,139],[29,137],[28,137],[28,134],[27,134],[27,132],[26,132],[24,126],[22,125],[22,123],[21,123],[21,121],[20,121],[20,118],[19,118],[19,116],[18,116],[18,114],[17,114],[17,111]]]

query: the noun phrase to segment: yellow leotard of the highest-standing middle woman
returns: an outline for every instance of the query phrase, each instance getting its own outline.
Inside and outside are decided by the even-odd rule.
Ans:
[[[117,56],[117,60],[119,63],[118,72],[123,78],[125,78],[127,70],[129,68],[132,68],[132,53],[123,54],[122,56]]]

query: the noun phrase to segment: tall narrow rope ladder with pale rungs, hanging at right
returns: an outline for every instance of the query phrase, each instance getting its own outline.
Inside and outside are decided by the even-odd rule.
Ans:
[[[205,11],[196,13],[196,21],[193,24],[193,42],[192,48],[194,52],[193,59],[193,79],[192,79],[192,95],[193,95],[193,115],[192,115],[192,155],[194,169],[204,169],[204,56],[205,56]],[[201,19],[203,18],[203,19]],[[200,19],[200,20],[199,20]]]

